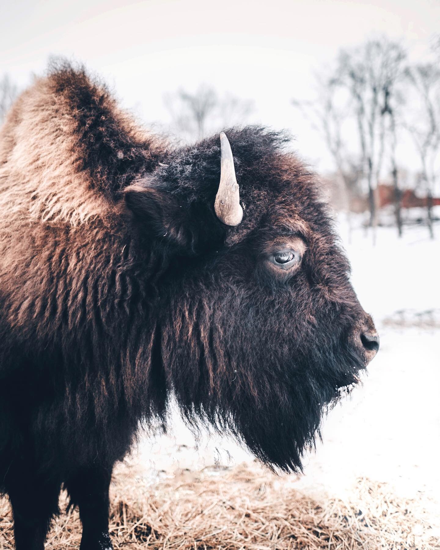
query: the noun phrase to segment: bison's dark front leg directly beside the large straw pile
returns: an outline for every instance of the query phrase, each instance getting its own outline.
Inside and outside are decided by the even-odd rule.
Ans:
[[[108,534],[108,488],[113,467],[91,467],[64,483],[83,524],[80,550],[112,550]]]

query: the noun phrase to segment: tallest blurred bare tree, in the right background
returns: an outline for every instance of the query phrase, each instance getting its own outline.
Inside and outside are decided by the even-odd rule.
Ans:
[[[403,48],[387,38],[367,41],[339,55],[338,81],[349,91],[353,100],[362,164],[368,184],[373,240],[376,239],[377,185],[385,152],[387,118],[393,120],[389,111],[404,59]],[[393,135],[395,138],[395,131]],[[395,162],[395,155],[393,158]],[[395,174],[397,177],[397,172]]]

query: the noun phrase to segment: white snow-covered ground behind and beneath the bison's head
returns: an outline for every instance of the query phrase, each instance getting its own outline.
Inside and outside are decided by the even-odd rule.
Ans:
[[[331,411],[323,444],[305,460],[305,474],[292,477],[298,488],[344,497],[357,477],[392,484],[440,500],[440,227],[438,239],[426,228],[378,229],[377,244],[355,230],[344,247],[353,284],[364,309],[373,314],[381,349],[364,385]],[[197,442],[174,415],[166,436],[144,439],[134,460],[152,480],[179,469],[201,469],[253,458],[228,438]]]

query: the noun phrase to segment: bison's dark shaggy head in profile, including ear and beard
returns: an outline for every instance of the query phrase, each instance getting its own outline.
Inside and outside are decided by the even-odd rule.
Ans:
[[[315,176],[279,135],[229,137],[239,196],[221,195],[230,191],[233,207],[218,208],[217,139],[172,153],[125,197],[141,246],[161,266],[151,315],[183,414],[232,432],[263,463],[299,470],[378,338]]]

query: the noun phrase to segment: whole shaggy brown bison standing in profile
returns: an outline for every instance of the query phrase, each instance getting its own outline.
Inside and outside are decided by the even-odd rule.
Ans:
[[[0,137],[0,491],[41,550],[61,488],[81,550],[111,548],[108,489],[140,423],[232,433],[301,470],[379,340],[316,176],[288,138],[173,147],[68,64]],[[238,182],[238,183],[237,183]]]

